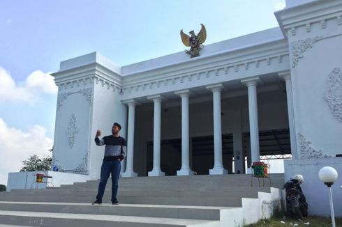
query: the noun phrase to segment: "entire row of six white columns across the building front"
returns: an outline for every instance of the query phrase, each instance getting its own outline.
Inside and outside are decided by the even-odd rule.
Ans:
[[[288,98],[288,115],[290,125],[290,143],[292,155],[295,152],[295,122],[292,108],[292,88],[290,81],[290,73],[282,72],[279,77],[285,80],[287,98]],[[257,103],[257,85],[260,83],[259,77],[251,79],[243,79],[241,83],[248,88],[248,111],[249,111],[249,127],[251,134],[251,161],[260,161],[259,150],[259,127],[258,127],[258,103]],[[214,168],[209,170],[210,175],[226,174],[227,170],[223,168],[222,161],[222,132],[221,132],[221,90],[222,84],[215,84],[206,87],[213,93],[213,115],[214,115]],[[193,175],[189,162],[189,90],[177,91],[176,95],[181,97],[181,169],[177,171],[177,175]],[[161,171],[161,95],[147,97],[154,102],[154,151],[153,151],[153,169],[148,173],[149,176],[165,175]],[[134,157],[134,118],[135,118],[135,100],[127,100],[124,102],[128,105],[128,144],[127,144],[127,166],[126,171],[122,173],[123,177],[134,177],[137,173],[133,171]]]

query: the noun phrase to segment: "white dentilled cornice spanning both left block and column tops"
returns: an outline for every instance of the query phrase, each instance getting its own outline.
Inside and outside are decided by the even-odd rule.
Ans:
[[[265,38],[267,40],[267,38]],[[177,65],[154,68],[121,76],[98,63],[55,72],[59,90],[75,86],[101,86],[121,93],[122,99],[149,96],[207,84],[253,77],[278,70],[288,70],[288,41],[262,41],[259,45],[239,47],[229,52],[186,61]]]

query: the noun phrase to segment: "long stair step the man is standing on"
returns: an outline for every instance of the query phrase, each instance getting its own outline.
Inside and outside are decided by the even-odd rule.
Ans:
[[[236,209],[239,208],[147,204],[112,205],[110,203],[91,205],[90,203],[0,202],[0,210],[167,217],[216,221],[220,220],[221,210],[232,211]]]

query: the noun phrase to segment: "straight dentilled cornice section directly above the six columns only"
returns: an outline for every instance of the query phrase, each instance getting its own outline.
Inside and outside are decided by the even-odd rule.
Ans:
[[[284,39],[265,46],[212,56],[196,64],[151,70],[143,72],[142,75],[127,75],[123,78],[122,91],[125,99],[134,98],[141,96],[142,93],[161,93],[163,88],[177,91],[198,86],[198,83],[221,83],[237,77],[288,70],[289,65],[288,42]]]

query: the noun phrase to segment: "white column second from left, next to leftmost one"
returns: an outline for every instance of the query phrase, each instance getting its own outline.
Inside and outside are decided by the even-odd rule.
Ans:
[[[154,102],[153,169],[149,176],[165,175],[161,171],[161,95],[147,97]]]

